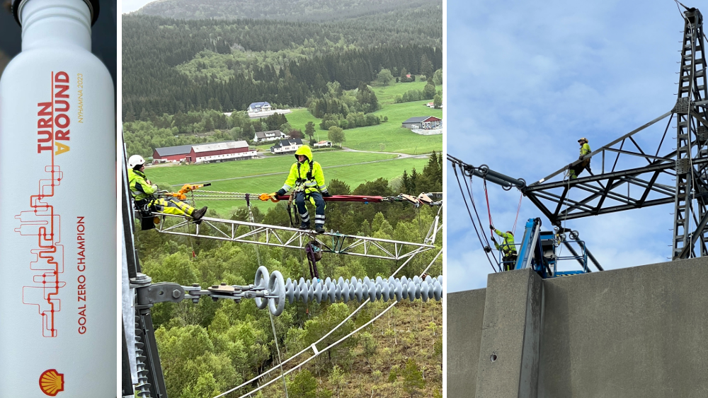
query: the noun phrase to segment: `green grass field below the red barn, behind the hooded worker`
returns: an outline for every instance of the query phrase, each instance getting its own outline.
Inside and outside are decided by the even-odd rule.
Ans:
[[[325,155],[333,155],[328,158]],[[403,174],[404,170],[411,172],[413,168],[423,170],[428,159],[405,158],[348,165],[372,160],[390,159],[377,153],[335,152],[323,154],[318,160],[324,167],[326,182],[336,179],[346,182],[351,189],[360,184],[383,177],[392,180]],[[324,159],[322,159],[324,158]],[[317,159],[317,158],[316,158]],[[295,159],[291,156],[277,156],[261,160],[240,160],[209,165],[182,165],[171,167],[148,168],[147,177],[157,184],[182,185],[187,182],[212,181],[208,188],[211,191],[248,192],[260,194],[274,192],[282,187],[287,177],[287,171]],[[332,167],[334,166],[334,167]],[[275,174],[270,174],[275,173]],[[224,180],[235,178],[233,180]],[[275,206],[273,202],[256,201],[256,206],[263,210]],[[228,216],[235,209],[245,206],[244,201],[198,201],[197,206],[209,206],[222,216]]]

